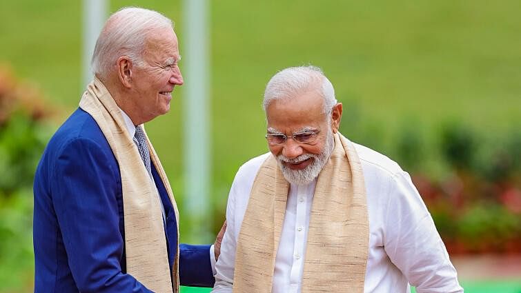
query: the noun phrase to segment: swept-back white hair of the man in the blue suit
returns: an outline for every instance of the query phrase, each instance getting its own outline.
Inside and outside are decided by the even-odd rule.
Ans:
[[[145,8],[126,7],[112,14],[96,41],[90,65],[100,79],[106,79],[110,66],[121,56],[143,65],[143,50],[148,34],[162,28],[174,29],[173,22],[163,14]]]

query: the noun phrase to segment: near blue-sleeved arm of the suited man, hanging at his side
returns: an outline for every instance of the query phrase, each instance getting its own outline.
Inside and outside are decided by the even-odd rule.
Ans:
[[[121,272],[124,239],[116,194],[121,181],[100,145],[76,139],[60,151],[52,198],[72,277],[80,292],[150,292]]]

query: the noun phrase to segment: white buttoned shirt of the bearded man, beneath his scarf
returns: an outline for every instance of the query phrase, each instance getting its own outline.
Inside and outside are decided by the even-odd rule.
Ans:
[[[369,219],[364,292],[463,292],[431,214],[409,174],[397,163],[355,144],[362,163]],[[257,172],[270,153],[239,168],[228,196],[228,226],[216,264],[212,292],[232,292],[235,248]],[[290,185],[275,258],[273,293],[300,292],[308,224],[316,179]],[[346,271],[346,274],[349,272]]]

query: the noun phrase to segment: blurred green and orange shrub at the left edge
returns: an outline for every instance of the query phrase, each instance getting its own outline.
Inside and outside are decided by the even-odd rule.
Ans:
[[[35,88],[0,67],[0,287],[8,292],[32,287],[32,181],[49,114]]]

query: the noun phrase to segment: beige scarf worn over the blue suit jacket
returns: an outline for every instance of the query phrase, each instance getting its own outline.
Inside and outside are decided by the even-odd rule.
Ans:
[[[126,129],[119,108],[99,79],[95,79],[88,85],[87,91],[81,97],[79,107],[95,119],[119,163],[123,189],[127,273],[153,292],[178,292],[179,246],[172,277],[168,265],[161,199],[141,161],[137,146]],[[150,160],[163,181],[179,223],[179,213],[170,183],[148,137],[147,141]],[[179,239],[179,232],[177,239]]]

